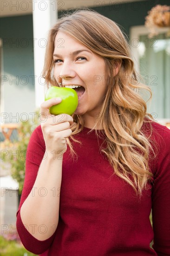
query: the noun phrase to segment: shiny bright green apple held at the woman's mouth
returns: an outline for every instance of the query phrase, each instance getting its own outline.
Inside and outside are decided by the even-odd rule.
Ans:
[[[68,114],[72,115],[78,106],[78,95],[72,88],[65,87],[50,87],[45,95],[45,101],[60,97],[62,101],[50,108],[50,114]]]

